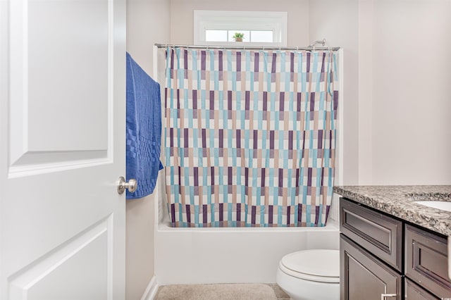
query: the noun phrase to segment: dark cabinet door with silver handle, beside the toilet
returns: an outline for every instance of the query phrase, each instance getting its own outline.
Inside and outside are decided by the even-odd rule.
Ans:
[[[402,277],[366,252],[345,235],[340,235],[340,299],[402,299]]]

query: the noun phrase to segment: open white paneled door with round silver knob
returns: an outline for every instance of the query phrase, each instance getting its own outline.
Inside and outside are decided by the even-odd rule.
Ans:
[[[125,0],[0,0],[0,299],[124,299]]]

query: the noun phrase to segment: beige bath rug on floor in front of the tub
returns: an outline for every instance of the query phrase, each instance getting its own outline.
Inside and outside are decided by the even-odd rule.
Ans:
[[[154,300],[276,300],[268,285],[164,285],[158,289]]]

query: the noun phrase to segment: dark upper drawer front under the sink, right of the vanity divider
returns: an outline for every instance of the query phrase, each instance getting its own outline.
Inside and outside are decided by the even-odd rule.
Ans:
[[[405,251],[406,276],[438,298],[451,297],[451,282],[447,274],[447,240],[406,225]]]

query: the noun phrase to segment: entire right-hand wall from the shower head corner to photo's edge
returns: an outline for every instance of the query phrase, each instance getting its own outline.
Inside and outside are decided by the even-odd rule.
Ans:
[[[345,184],[451,184],[451,1],[311,0],[345,49]],[[340,108],[339,108],[340,109]]]

